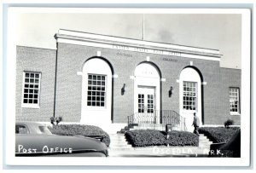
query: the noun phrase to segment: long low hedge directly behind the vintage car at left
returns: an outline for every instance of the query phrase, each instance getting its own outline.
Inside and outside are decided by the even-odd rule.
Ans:
[[[94,125],[59,124],[49,128],[51,133],[59,136],[105,136],[103,141],[108,147],[110,138],[108,133]]]

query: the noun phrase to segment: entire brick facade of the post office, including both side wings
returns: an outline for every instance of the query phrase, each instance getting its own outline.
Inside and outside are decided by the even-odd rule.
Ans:
[[[227,118],[240,124],[240,116],[230,116],[230,87],[241,88],[241,70],[219,67],[219,61],[184,58],[171,55],[155,55],[118,49],[96,48],[69,43],[57,44],[56,85],[55,85],[55,50],[17,47],[17,90],[16,118],[48,121],[53,115],[55,90],[55,116],[61,116],[67,122],[79,122],[81,118],[82,72],[85,61],[101,51],[103,59],[113,68],[113,123],[126,123],[127,116],[134,112],[134,84],[131,76],[136,66],[147,61],[160,69],[160,107],[163,110],[179,112],[179,79],[183,68],[190,66],[201,73],[202,112],[204,124],[224,124]],[[168,61],[166,61],[168,60]],[[40,109],[21,108],[22,72],[32,70],[42,72],[42,93]],[[125,95],[121,95],[126,84]],[[173,95],[168,91],[173,87]]]

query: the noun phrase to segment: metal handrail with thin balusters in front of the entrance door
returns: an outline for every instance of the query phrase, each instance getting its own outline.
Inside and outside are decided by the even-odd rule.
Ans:
[[[153,112],[136,112],[128,118],[128,124],[172,124],[180,130],[187,130],[185,118],[173,110],[154,110]]]

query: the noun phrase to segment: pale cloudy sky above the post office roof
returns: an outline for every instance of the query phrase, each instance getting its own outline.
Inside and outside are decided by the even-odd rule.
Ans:
[[[143,14],[22,13],[16,44],[56,49],[59,29],[143,39]],[[241,69],[241,14],[144,14],[144,40],[219,49],[220,66]]]

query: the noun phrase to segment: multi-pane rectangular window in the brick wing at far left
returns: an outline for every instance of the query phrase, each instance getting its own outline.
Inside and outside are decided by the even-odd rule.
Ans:
[[[24,72],[22,107],[39,107],[40,72]]]

